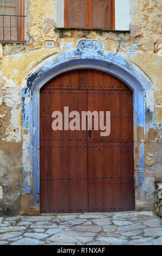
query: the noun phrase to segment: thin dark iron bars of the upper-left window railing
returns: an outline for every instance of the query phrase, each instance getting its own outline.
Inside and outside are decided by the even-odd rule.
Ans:
[[[0,42],[25,42],[25,40],[19,40],[19,18],[25,18],[26,15],[0,15],[0,17],[2,17],[2,40],[0,39]],[[5,21],[5,17],[10,17],[10,21],[9,21],[9,24],[10,24],[10,40],[8,39],[5,39],[5,27],[4,27],[4,21]],[[17,40],[13,40],[12,39],[12,26],[11,26],[11,17],[17,17]],[[24,22],[24,20],[23,20]],[[1,29],[1,28],[0,28]],[[24,28],[21,28],[21,29],[24,29]]]

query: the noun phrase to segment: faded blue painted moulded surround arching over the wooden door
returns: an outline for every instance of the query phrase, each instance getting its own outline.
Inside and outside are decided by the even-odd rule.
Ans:
[[[96,69],[116,76],[133,90],[134,124],[137,115],[138,125],[145,127],[146,90],[151,88],[151,81],[138,66],[121,56],[102,50],[100,42],[96,41],[79,40],[76,49],[46,58],[28,74],[27,88],[22,92],[22,127],[30,131],[30,140],[23,149],[30,163],[30,170],[26,169],[23,162],[22,193],[32,193],[34,205],[39,205],[39,90],[53,77],[74,69]],[[25,103],[28,97],[30,102]],[[139,160],[141,186],[144,184],[144,167],[142,143]]]

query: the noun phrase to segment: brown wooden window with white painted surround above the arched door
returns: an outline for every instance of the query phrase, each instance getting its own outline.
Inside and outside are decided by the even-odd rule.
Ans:
[[[129,0],[57,0],[57,28],[129,31]]]

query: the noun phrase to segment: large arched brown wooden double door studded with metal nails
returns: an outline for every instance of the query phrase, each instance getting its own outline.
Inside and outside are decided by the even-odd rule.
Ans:
[[[91,137],[87,130],[52,130],[52,113],[64,115],[65,106],[80,115],[110,111],[110,135],[101,137],[93,129]],[[53,78],[40,90],[41,212],[130,211],[134,197],[132,91],[96,70]]]

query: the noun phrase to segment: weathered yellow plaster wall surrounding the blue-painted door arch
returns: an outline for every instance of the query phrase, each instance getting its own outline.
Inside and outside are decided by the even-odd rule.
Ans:
[[[26,77],[47,57],[76,48],[79,39],[99,40],[103,50],[139,66],[152,82],[146,95],[146,127],[140,125],[140,120],[136,120],[134,126],[136,207],[139,210],[152,208],[154,181],[162,180],[160,10],[160,0],[131,0],[130,33],[57,30],[55,0],[26,1],[26,43],[0,43],[0,185],[4,188],[0,211],[6,214],[18,211],[22,161],[29,162],[24,154],[25,141],[22,146],[21,124],[22,89],[27,86]],[[54,42],[53,48],[45,47],[47,40]],[[32,184],[28,182],[32,178],[22,176],[22,181]],[[32,212],[30,194],[24,192],[21,202],[22,214]]]

